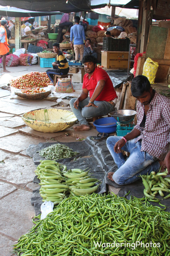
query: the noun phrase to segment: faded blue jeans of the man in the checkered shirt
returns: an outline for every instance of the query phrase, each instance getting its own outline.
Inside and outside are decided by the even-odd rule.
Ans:
[[[113,174],[113,180],[119,185],[125,185],[139,180],[140,174],[150,174],[152,171],[158,172],[160,164],[158,159],[141,150],[141,141],[135,143],[135,139],[129,140],[121,148],[129,152],[130,156],[125,161],[122,153],[115,153],[115,143],[120,140],[120,136],[110,136],[107,138],[107,148],[112,155],[118,170]]]

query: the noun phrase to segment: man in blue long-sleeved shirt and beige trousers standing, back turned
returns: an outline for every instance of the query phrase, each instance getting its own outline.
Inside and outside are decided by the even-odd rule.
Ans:
[[[84,52],[84,43],[83,39],[85,40],[85,29],[83,26],[79,25],[80,18],[76,16],[74,18],[75,25],[71,27],[70,30],[70,41],[71,41],[71,48],[72,48],[72,41],[73,41],[73,36],[74,36],[74,52],[75,52],[75,59],[78,59],[78,54],[80,54],[80,60],[82,61],[83,59],[83,52]],[[85,42],[86,46],[86,42]]]

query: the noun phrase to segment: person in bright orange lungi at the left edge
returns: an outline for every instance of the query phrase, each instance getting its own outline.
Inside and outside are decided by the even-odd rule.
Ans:
[[[5,60],[6,60],[6,54],[10,51],[10,48],[8,47],[8,39],[6,34],[6,28],[7,28],[7,21],[2,20],[1,21],[1,27],[0,27],[0,58],[2,58],[2,64],[3,64],[3,72],[10,72],[6,69],[5,66]]]

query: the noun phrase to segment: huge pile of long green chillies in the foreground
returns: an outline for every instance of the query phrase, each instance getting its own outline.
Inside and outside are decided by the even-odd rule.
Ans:
[[[18,255],[170,255],[170,212],[143,199],[72,196],[33,222],[14,246]]]

